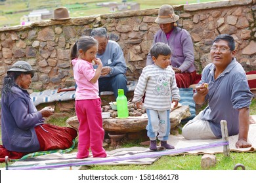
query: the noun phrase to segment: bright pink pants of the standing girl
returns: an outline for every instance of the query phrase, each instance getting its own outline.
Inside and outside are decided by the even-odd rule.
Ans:
[[[101,99],[75,101],[75,112],[79,121],[77,158],[88,158],[89,148],[93,157],[106,157],[102,148],[104,129],[102,128]]]

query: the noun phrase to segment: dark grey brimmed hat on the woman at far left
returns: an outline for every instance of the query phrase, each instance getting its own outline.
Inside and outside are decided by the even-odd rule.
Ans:
[[[11,68],[7,71],[7,73],[9,72],[22,72],[22,73],[30,73],[33,75],[35,75],[35,70],[32,69],[30,63],[26,62],[26,61],[17,61],[16,63],[14,63]]]

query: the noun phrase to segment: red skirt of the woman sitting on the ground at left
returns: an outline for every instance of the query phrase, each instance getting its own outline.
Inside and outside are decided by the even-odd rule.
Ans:
[[[40,144],[39,151],[67,149],[77,137],[77,131],[71,127],[59,127],[43,124],[35,127],[35,133]]]

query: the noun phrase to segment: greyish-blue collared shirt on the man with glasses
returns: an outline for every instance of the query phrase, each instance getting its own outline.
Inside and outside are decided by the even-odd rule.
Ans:
[[[216,137],[221,138],[221,120],[226,120],[228,135],[239,132],[238,109],[251,105],[253,94],[249,90],[244,68],[236,58],[226,67],[223,73],[214,78],[215,65],[209,63],[202,72],[203,82],[209,84],[209,93],[205,96],[208,106],[202,112],[202,120],[210,123]]]

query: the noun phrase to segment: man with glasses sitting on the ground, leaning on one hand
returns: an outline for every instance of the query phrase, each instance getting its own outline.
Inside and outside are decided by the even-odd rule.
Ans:
[[[226,120],[228,135],[237,135],[236,148],[248,148],[249,106],[253,97],[245,71],[235,58],[231,35],[218,35],[213,41],[209,63],[202,72],[193,99],[208,106],[182,128],[185,139],[221,138],[221,120]],[[209,84],[209,86],[208,86]]]

